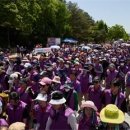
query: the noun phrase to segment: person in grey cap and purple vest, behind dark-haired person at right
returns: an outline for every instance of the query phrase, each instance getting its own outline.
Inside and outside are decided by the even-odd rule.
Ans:
[[[110,64],[109,68],[107,69],[107,73],[106,73],[106,88],[109,89],[111,86],[111,82],[117,77],[118,75],[118,71],[116,70],[116,67],[114,64]]]

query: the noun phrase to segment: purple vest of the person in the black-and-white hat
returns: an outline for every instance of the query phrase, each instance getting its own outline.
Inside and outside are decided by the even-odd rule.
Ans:
[[[73,113],[73,110],[70,108],[63,108],[58,113],[52,109],[50,113],[50,117],[52,119],[52,123],[50,126],[50,130],[72,130],[70,125],[68,124],[68,116]]]

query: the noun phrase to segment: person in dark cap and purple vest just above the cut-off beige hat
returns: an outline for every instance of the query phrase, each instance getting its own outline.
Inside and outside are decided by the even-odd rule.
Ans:
[[[27,104],[19,100],[17,92],[11,92],[9,96],[10,102],[7,104],[6,113],[8,115],[8,123],[20,121],[27,123],[28,109]]]

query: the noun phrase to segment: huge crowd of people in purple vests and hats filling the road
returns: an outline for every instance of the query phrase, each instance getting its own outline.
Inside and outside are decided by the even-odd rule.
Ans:
[[[0,52],[0,130],[129,130],[130,49]]]

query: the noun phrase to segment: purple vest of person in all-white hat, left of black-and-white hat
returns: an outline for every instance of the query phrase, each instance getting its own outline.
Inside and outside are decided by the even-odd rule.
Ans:
[[[34,106],[35,118],[37,120],[37,123],[40,124],[38,130],[45,130],[46,123],[49,117],[50,107],[51,106],[48,105],[47,108],[41,108],[39,104]]]

